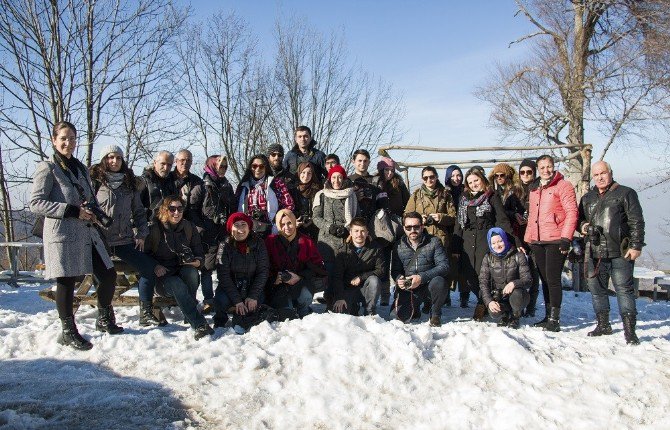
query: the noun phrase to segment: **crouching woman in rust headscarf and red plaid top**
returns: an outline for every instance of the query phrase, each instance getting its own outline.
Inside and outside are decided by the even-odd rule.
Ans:
[[[299,233],[293,212],[277,212],[279,234],[265,239],[270,257],[270,282],[267,302],[275,309],[295,309],[300,318],[310,313],[315,292],[315,277],[325,277],[321,254],[314,241]]]

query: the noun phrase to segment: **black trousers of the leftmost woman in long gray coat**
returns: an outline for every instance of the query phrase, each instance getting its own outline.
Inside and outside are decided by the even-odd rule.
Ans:
[[[107,307],[112,303],[114,289],[116,288],[116,270],[105,267],[98,252],[93,248],[91,255],[93,259],[93,276],[98,282],[96,293],[98,295],[98,307]],[[74,284],[78,276],[62,276],[56,278],[56,309],[58,316],[66,318],[73,315]]]

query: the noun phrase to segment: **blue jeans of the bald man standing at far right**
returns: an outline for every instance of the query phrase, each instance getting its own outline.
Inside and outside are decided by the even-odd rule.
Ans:
[[[597,261],[593,258],[589,259],[589,270],[587,273],[593,310],[596,313],[609,313],[610,301],[607,295],[607,285],[611,278],[617,302],[619,303],[619,313],[621,315],[626,313],[635,315],[637,313],[635,308],[635,288],[633,286],[633,268],[635,267],[635,262],[626,260],[623,257],[602,258],[598,265],[598,273],[594,276]]]

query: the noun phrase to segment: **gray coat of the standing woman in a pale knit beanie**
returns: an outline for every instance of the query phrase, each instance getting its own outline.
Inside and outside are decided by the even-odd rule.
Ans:
[[[103,228],[109,246],[128,245],[134,243],[135,239],[147,237],[149,227],[146,208],[139,190],[133,191],[125,184],[113,190],[101,184],[97,196],[100,208],[114,219],[109,228]]]

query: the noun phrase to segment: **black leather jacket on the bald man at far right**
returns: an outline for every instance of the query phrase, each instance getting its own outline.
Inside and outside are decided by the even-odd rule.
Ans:
[[[588,237],[591,258],[616,258],[626,248],[641,250],[644,243],[644,218],[637,193],[613,182],[600,194],[596,187],[579,202],[579,230],[585,223],[600,227],[600,234]],[[595,240],[595,241],[594,241]]]

